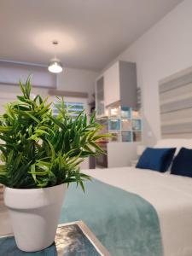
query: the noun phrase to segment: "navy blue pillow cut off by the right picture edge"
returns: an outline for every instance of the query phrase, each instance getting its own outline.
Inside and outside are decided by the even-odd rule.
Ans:
[[[192,177],[192,149],[181,148],[172,163],[172,174]]]

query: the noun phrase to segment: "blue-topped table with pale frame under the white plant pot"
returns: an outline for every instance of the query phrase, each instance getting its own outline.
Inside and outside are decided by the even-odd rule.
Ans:
[[[0,255],[109,256],[110,254],[88,227],[82,221],[77,221],[60,224],[56,230],[55,243],[36,253],[21,252],[16,247],[14,236],[1,236]]]

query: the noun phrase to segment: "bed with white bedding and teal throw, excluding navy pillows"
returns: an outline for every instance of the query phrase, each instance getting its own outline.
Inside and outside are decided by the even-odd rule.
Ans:
[[[156,147],[164,148],[177,146],[178,151],[182,146],[192,148],[191,145],[191,140],[165,140],[157,143]],[[84,196],[87,197],[87,199],[90,196],[88,185],[87,194],[85,191],[85,195],[82,194],[80,197],[77,190],[75,191],[76,188],[71,188],[71,191],[69,189],[69,193],[67,193],[67,198],[63,204],[61,222],[84,218],[84,222],[90,226],[90,229],[95,232],[96,236],[98,236],[104,246],[106,246],[109,252],[115,256],[192,255],[192,178],[171,175],[168,172],[160,173],[150,170],[141,170],[134,167],[95,169],[86,170],[84,172],[93,177],[95,183],[94,186],[95,189],[97,188],[98,194],[101,192],[101,186],[106,186],[107,191],[111,188],[119,189],[114,190],[114,193],[127,193],[127,197],[131,197],[131,201],[128,201],[130,206],[132,201],[136,201],[137,206],[141,203],[141,201],[139,201],[140,199],[145,201],[146,204],[143,204],[142,202],[139,207],[141,208],[141,211],[149,211],[149,213],[147,212],[145,216],[143,213],[143,218],[140,216],[140,220],[137,220],[135,218],[137,213],[134,212],[131,218],[131,212],[125,212],[131,208],[128,205],[128,207],[124,209],[124,214],[122,214],[122,212],[119,211],[118,206],[119,202],[122,201],[121,196],[125,195],[119,194],[120,196],[118,200],[118,197],[115,197],[117,194],[112,193],[111,195],[115,195],[114,197],[117,202],[117,209],[110,208],[110,204],[113,203],[113,200],[108,200],[108,203],[106,204],[107,210],[110,212],[108,213],[108,216],[113,216],[113,219],[110,219],[109,221],[109,217],[106,216],[105,220],[103,221],[102,219],[101,223],[100,212],[97,212],[96,210],[97,214],[94,216],[91,216],[91,212],[95,212],[92,210],[94,207],[98,208],[98,206],[100,206],[100,203],[102,203],[102,200],[100,199],[105,197],[105,193],[103,192],[102,196],[101,194],[97,196],[95,190],[93,192],[95,201],[91,202],[92,206],[89,208],[89,203],[84,200]],[[75,199],[71,196],[73,193],[75,193]],[[96,198],[98,198],[98,200],[96,200]],[[120,206],[122,207],[122,205]],[[146,210],[146,206],[149,207],[149,210]],[[100,208],[103,208],[103,206]],[[158,219],[155,219],[153,208]],[[113,215],[111,215],[111,211],[113,211]],[[151,219],[153,220],[152,223],[146,220],[148,216],[149,221],[151,221]],[[141,232],[137,230],[137,235],[141,236],[142,234],[142,238],[133,236],[135,240],[138,239],[136,244],[134,244],[135,241],[131,241],[131,233],[129,233],[129,239],[127,238],[127,240],[124,240],[124,238],[126,238],[126,234],[128,233],[124,234],[120,230],[122,229],[124,232],[124,228],[126,226],[130,229],[131,226],[129,226],[129,224],[131,219],[138,222],[138,227],[142,226],[143,229]],[[144,226],[142,225],[144,221],[147,221],[146,224],[151,225],[150,229],[148,229],[146,224]],[[117,222],[113,229],[116,229],[116,232],[119,232],[120,235],[123,234],[122,236],[124,237],[123,242],[125,243],[125,247],[117,244],[117,236],[110,236],[110,239],[107,239],[109,235],[108,232],[111,231],[110,227],[113,225],[113,222]],[[105,228],[109,231],[106,232],[106,234],[103,233],[101,236],[100,231],[102,230],[103,226],[105,226]],[[132,229],[134,230],[134,228],[135,227],[132,224]],[[136,230],[132,233],[136,233]],[[141,241],[141,247],[139,246],[139,239],[144,239]],[[148,244],[144,246],[143,243]],[[133,244],[133,248],[129,251],[131,244]]]

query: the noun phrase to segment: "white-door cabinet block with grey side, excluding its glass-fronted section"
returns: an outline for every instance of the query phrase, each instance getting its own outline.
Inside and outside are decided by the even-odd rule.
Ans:
[[[121,106],[137,108],[136,63],[118,61],[104,73],[105,107],[120,102]]]

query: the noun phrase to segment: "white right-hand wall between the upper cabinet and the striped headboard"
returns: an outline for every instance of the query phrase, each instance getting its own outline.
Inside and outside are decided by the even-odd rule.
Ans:
[[[142,87],[144,143],[160,138],[158,82],[192,66],[192,1],[185,0],[125,50],[118,60],[137,62]],[[152,137],[148,137],[151,131]]]

